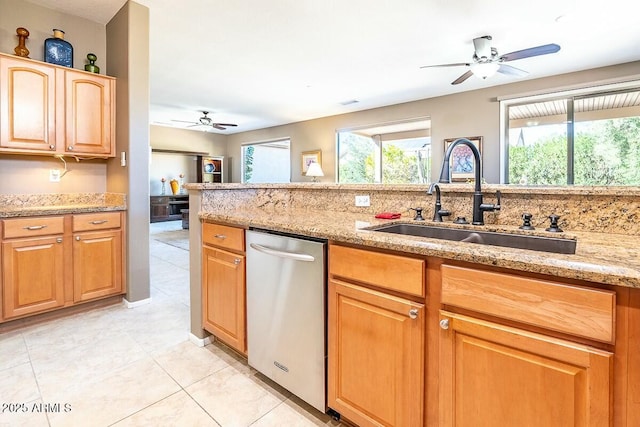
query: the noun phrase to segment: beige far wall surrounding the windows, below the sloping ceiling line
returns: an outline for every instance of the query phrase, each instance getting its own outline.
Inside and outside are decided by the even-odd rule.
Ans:
[[[301,174],[300,154],[308,150],[322,150],[324,182],[336,179],[336,137],[338,129],[367,126],[409,118],[431,117],[433,144],[432,179],[437,178],[444,155],[445,138],[482,136],[483,171],[488,182],[500,179],[499,103],[497,97],[531,95],[568,88],[585,87],[594,83],[611,83],[640,79],[640,62],[603,67],[560,76],[527,80],[492,88],[454,95],[423,99],[372,110],[359,111],[317,120],[275,126],[229,135],[227,154],[233,159],[232,180],[240,182],[241,144],[268,139],[291,138],[291,180],[308,181]]]

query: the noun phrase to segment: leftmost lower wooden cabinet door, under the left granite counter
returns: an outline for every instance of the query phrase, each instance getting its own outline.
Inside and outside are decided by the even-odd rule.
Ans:
[[[62,236],[2,243],[4,318],[64,305]]]

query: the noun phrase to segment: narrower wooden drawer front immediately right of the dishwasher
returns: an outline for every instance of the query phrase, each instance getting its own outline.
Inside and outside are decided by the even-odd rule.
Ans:
[[[381,288],[424,296],[425,260],[331,245],[329,273]]]

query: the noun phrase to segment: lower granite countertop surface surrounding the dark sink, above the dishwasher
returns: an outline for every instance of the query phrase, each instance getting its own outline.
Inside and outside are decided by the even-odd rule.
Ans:
[[[367,214],[302,209],[220,209],[200,212],[199,216],[204,220],[235,226],[265,228],[334,242],[640,288],[640,248],[634,237],[622,234],[563,233],[563,237],[577,239],[576,253],[564,255],[363,230],[378,224],[412,222],[410,218],[380,220]],[[426,224],[430,223],[426,221]],[[496,227],[481,226],[478,229],[495,231]],[[500,230],[518,232],[517,227],[501,227]]]

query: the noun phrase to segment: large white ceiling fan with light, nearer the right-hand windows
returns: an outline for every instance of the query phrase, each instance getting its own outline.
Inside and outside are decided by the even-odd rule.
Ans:
[[[496,72],[507,74],[510,76],[524,77],[527,73],[516,67],[504,64],[504,62],[515,61],[516,59],[530,58],[532,56],[547,55],[556,53],[560,50],[560,46],[555,43],[545,44],[542,46],[530,47],[528,49],[517,50],[498,56],[498,50],[491,47],[491,36],[482,36],[473,39],[475,52],[473,53],[473,62],[458,62],[455,64],[425,65],[420,68],[433,67],[469,67],[470,70],[451,82],[457,85],[467,80],[472,75],[476,75],[482,79],[491,77]]]

